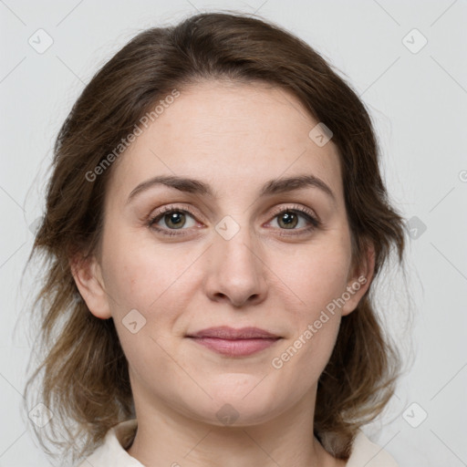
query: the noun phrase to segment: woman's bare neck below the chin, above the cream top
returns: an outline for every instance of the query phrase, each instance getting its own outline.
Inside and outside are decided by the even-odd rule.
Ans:
[[[147,467],[343,466],[313,435],[315,398],[307,393],[259,424],[219,426],[135,397],[138,431],[128,452]]]

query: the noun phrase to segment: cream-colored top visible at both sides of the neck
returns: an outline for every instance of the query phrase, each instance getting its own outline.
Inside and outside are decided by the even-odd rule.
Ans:
[[[137,420],[122,421],[106,435],[101,446],[78,467],[144,467],[125,451],[132,440],[137,427]],[[122,445],[123,443],[123,445]],[[369,441],[363,431],[358,431],[352,453],[346,467],[398,467],[398,463],[377,444]]]

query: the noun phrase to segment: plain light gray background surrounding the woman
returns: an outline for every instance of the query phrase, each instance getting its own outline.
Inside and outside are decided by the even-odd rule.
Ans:
[[[381,295],[389,327],[414,363],[385,416],[366,431],[401,467],[467,465],[466,3],[6,0],[0,1],[0,466],[49,465],[20,411],[32,344],[26,321],[18,319],[26,317],[34,279],[20,289],[19,277],[33,240],[29,226],[42,213],[57,130],[98,67],[140,30],[197,9],[225,8],[257,12],[305,39],[368,105],[392,200],[426,231],[413,231],[408,249],[413,326],[405,319],[400,274]],[[42,54],[28,44],[39,28],[54,41]],[[406,47],[422,44],[414,28],[428,40],[417,53]]]

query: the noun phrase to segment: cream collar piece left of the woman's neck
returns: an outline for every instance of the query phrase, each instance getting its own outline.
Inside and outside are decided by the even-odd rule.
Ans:
[[[136,420],[126,420],[110,429],[104,442],[77,467],[143,467],[125,450],[136,432]]]

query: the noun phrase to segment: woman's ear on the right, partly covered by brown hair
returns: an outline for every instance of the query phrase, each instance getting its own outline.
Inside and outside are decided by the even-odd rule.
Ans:
[[[375,271],[375,248],[368,244],[362,265],[352,267],[348,276],[346,291],[343,293],[345,304],[341,308],[341,316],[347,316],[357,308],[362,296],[368,290]]]

